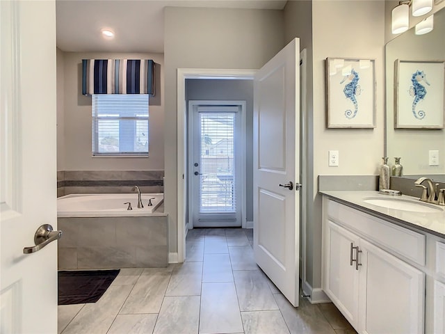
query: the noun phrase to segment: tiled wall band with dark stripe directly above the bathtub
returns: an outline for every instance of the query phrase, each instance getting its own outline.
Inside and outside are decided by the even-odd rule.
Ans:
[[[163,193],[163,170],[59,170],[57,196],[72,193]]]

